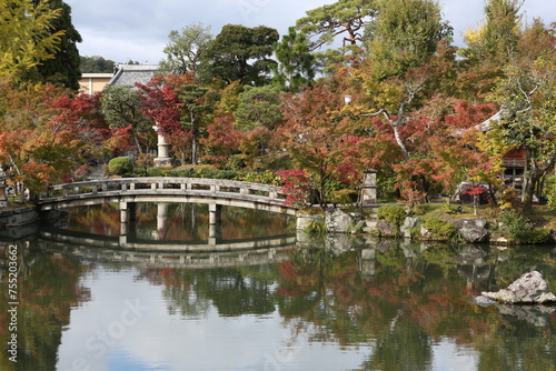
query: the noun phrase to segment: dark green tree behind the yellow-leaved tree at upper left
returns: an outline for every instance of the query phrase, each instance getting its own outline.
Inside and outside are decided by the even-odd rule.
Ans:
[[[63,32],[53,58],[47,59],[37,67],[40,79],[44,82],[61,83],[62,86],[79,90],[81,59],[77,43],[81,36],[71,23],[71,7],[62,0],[49,0],[51,9],[59,9],[60,16],[51,23],[51,33]]]

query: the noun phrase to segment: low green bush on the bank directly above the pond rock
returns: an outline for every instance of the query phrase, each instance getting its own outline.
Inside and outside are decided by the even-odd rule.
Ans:
[[[498,214],[502,234],[515,243],[544,243],[549,239],[548,231],[534,227],[527,218],[516,210],[503,210]]]

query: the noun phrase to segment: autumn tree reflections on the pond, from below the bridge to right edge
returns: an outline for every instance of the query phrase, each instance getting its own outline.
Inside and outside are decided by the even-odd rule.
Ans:
[[[278,264],[143,269],[140,278],[163,285],[172,314],[277,310],[292,327],[288,343],[302,334],[340,348],[366,345],[359,370],[431,370],[444,341],[478,354],[479,370],[555,370],[556,311],[534,317],[532,308],[519,314],[471,303],[532,267],[554,282],[547,250],[378,243],[342,253],[296,249]]]

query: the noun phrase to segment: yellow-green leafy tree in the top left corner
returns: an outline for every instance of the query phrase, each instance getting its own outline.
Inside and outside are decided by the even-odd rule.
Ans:
[[[21,78],[52,58],[63,31],[52,32],[61,9],[50,1],[7,0],[0,2],[0,74]]]

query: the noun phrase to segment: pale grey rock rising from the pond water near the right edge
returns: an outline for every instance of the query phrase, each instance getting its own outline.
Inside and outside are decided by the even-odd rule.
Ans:
[[[556,302],[548,284],[537,271],[525,273],[506,289],[481,292],[484,297],[509,304],[543,304]]]

